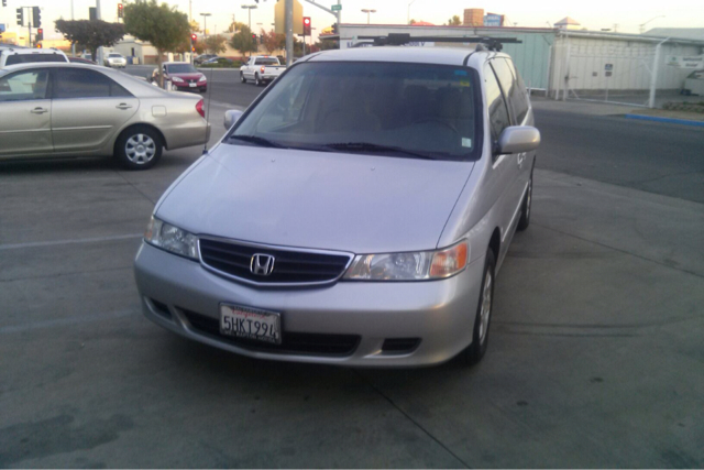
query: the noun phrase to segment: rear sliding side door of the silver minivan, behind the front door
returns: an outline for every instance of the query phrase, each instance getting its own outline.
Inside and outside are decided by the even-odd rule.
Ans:
[[[498,84],[501,85],[502,92],[504,95],[504,99],[508,107],[508,112],[510,114],[510,124],[512,125],[520,125],[518,122],[518,110],[516,109],[515,98],[518,94],[518,87],[516,85],[516,80],[514,79],[514,75],[508,67],[508,63],[503,57],[497,57],[491,61],[492,68],[496,74],[496,78],[498,79]],[[514,153],[509,155],[503,155],[507,161],[510,162],[512,168],[512,182],[509,187],[509,195],[507,197],[506,204],[507,210],[510,212],[512,220],[509,223],[509,231],[513,234],[513,230],[515,225],[518,222],[518,218],[520,216],[520,203],[522,201],[522,195],[526,189],[525,183],[521,181],[521,173],[526,166],[526,153]]]

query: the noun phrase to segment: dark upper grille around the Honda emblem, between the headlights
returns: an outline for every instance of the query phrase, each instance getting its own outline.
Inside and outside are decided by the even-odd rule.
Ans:
[[[274,256],[274,270],[267,276],[250,271],[252,256],[257,253]],[[351,255],[288,251],[200,239],[200,259],[207,266],[253,283],[305,284],[337,280],[344,273]]]

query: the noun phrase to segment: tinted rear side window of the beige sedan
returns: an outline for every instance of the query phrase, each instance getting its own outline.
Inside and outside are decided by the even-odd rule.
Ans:
[[[132,96],[120,85],[95,70],[59,68],[54,80],[54,98],[103,98]]]

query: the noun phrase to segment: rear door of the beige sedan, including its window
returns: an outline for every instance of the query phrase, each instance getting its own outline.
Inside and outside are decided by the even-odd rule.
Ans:
[[[57,68],[52,92],[54,152],[96,152],[134,116],[140,100],[89,68]]]

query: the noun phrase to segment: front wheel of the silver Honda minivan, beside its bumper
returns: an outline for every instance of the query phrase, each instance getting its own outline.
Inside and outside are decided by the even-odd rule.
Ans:
[[[474,318],[474,329],[472,331],[472,343],[462,352],[465,364],[473,365],[482,360],[488,346],[488,330],[492,321],[492,310],[494,308],[494,284],[496,258],[490,248],[484,260],[484,274],[482,275],[482,287],[480,291],[480,302],[476,307]]]

